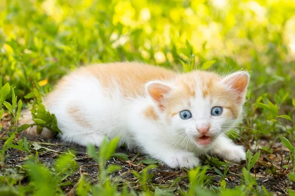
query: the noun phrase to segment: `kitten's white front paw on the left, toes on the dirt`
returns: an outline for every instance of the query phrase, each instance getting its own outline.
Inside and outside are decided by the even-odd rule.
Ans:
[[[200,160],[193,153],[182,152],[177,154],[171,154],[168,156],[164,162],[170,168],[183,168],[193,169],[200,165]]]

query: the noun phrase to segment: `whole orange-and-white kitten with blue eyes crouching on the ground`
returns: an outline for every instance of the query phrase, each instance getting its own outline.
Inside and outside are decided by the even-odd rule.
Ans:
[[[44,98],[64,141],[99,147],[104,135],[139,147],[171,168],[194,168],[199,155],[245,160],[245,151],[225,133],[241,117],[249,75],[226,77],[194,71],[175,73],[138,63],[82,67],[63,77]],[[30,112],[21,123],[33,123]],[[50,137],[36,127],[25,135]]]

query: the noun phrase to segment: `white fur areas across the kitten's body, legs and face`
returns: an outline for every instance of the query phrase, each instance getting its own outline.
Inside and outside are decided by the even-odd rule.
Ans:
[[[83,109],[82,117],[88,120],[91,128],[79,125],[69,116],[69,103],[75,103]],[[148,95],[124,98],[117,90],[112,91],[110,96],[108,89],[104,89],[97,78],[81,75],[72,79],[70,85],[54,100],[54,104],[49,105],[47,109],[56,115],[63,133],[60,137],[64,141],[83,146],[91,143],[99,147],[104,135],[110,139],[120,135],[121,144],[129,148],[139,147],[171,168],[194,168],[200,165],[198,156],[205,153],[218,154],[236,162],[245,159],[244,149],[234,145],[221,130],[228,129],[235,121],[227,119],[225,115],[211,116],[210,110],[215,105],[210,104],[209,98],[202,98],[201,94],[191,100],[190,108],[179,108],[179,111],[189,109],[193,118],[182,120],[179,115],[175,115],[167,122],[164,114],[157,110],[160,121],[155,122],[143,114],[148,106],[156,107]],[[193,140],[199,134],[196,126],[201,123],[210,123],[210,135],[216,138],[206,148]]]

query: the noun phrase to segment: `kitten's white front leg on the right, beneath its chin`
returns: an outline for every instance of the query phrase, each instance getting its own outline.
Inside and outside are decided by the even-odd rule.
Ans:
[[[225,135],[221,135],[215,141],[211,148],[212,154],[217,154],[226,160],[239,163],[241,160],[246,160],[245,148],[235,145]]]

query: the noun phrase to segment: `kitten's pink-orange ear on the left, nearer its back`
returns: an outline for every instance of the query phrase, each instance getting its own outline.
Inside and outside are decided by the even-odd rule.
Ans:
[[[164,110],[163,101],[173,87],[161,81],[151,81],[146,84],[146,91],[150,98],[157,104],[161,111]]]

